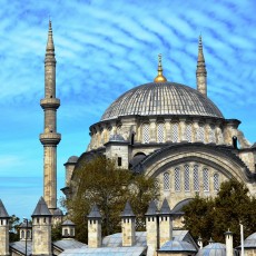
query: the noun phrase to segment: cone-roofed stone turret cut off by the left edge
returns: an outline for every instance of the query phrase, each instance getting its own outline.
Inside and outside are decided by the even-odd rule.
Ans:
[[[7,256],[9,254],[9,219],[2,200],[0,199],[0,255]]]

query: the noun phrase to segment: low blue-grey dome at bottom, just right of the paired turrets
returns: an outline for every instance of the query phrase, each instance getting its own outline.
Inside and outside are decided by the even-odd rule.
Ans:
[[[197,249],[185,240],[168,240],[166,244],[164,244],[160,249],[160,252],[187,252],[187,253],[196,253]]]

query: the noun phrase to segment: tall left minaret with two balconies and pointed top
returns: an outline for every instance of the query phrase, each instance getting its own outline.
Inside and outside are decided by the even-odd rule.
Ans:
[[[40,105],[45,111],[45,130],[40,134],[43,145],[43,198],[53,213],[57,208],[57,145],[61,136],[57,134],[56,121],[60,100],[56,98],[56,58],[51,21],[45,58],[45,99],[41,99]]]

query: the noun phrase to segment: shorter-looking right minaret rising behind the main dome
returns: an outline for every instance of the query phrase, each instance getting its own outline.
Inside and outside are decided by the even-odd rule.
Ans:
[[[207,96],[207,71],[205,67],[205,57],[203,52],[201,36],[199,36],[199,42],[198,42],[196,82],[197,82],[197,90],[201,92],[204,96]]]

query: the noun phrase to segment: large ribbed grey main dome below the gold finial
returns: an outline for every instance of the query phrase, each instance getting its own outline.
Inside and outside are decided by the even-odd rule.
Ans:
[[[224,118],[215,104],[197,90],[168,81],[145,83],[125,92],[107,108],[100,120],[130,115]]]

